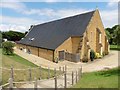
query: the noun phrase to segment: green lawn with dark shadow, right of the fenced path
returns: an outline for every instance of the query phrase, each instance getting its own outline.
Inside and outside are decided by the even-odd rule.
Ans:
[[[120,68],[84,73],[83,77],[73,88],[118,88],[118,77]]]

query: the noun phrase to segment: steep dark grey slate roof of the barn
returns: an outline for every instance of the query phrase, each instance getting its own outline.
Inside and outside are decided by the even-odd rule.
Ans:
[[[55,50],[71,36],[82,36],[95,11],[35,25],[19,43]]]

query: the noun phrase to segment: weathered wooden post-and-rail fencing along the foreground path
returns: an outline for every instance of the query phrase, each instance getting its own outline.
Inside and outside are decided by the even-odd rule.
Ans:
[[[63,67],[63,70],[62,70],[62,67],[59,67],[59,71],[62,71],[62,75],[63,75],[63,79],[64,79],[64,88],[67,88],[68,84],[67,84],[67,66]],[[14,81],[14,69],[11,68],[11,77],[8,79],[8,83],[2,85],[1,87],[4,88],[4,87],[7,87],[7,88],[14,88],[15,84],[20,84],[20,83],[27,83],[27,82],[31,82],[31,83],[34,83],[34,88],[38,88],[38,81],[40,80],[37,80],[37,78],[34,79],[34,81],[31,81],[31,70],[29,69],[29,81],[26,81],[26,82],[15,82]],[[72,71],[72,72],[69,72],[70,76],[71,76],[71,86],[76,84],[82,77],[82,67],[79,68],[78,70],[76,71]],[[59,83],[58,82],[58,79],[59,79],[60,75],[57,75],[57,70],[56,68],[54,69],[54,88],[55,90],[57,90],[57,88],[61,88],[59,87]],[[50,68],[48,68],[48,79],[50,79]],[[70,86],[70,85],[69,85]],[[63,88],[63,87],[62,87]]]

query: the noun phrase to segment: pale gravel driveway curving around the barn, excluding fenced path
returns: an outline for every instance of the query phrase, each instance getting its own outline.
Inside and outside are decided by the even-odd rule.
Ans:
[[[59,61],[59,63],[53,63],[44,58],[37,57],[32,54],[27,54],[18,49],[15,49],[15,53],[27,59],[28,61],[38,66],[42,66],[44,68],[50,67],[51,69],[54,68],[59,69],[60,66],[62,67],[64,65],[67,65],[68,70],[73,71],[82,66],[83,72],[91,72],[91,71],[98,71],[102,69],[118,67],[118,53],[120,53],[120,51],[110,51],[109,55],[106,55],[102,59],[95,59],[93,62],[88,62],[88,63],[81,63],[81,62],[73,63],[69,61]]]

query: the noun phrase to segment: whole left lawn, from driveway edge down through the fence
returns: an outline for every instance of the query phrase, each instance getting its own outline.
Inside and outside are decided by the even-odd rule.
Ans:
[[[1,50],[1,49],[0,49]],[[11,66],[14,67],[14,81],[28,81],[29,80],[29,67],[31,67],[32,80],[36,77],[40,78],[40,69],[37,65],[29,62],[28,60],[14,54],[14,55],[4,55],[2,54],[2,67],[10,69]],[[15,69],[25,69],[25,70],[15,70]],[[41,69],[42,79],[48,78],[48,70]],[[58,72],[58,74],[60,74]],[[50,70],[50,77],[53,77],[54,71]],[[2,84],[7,83],[10,78],[10,70],[2,70]]]

